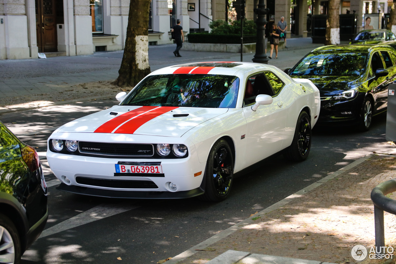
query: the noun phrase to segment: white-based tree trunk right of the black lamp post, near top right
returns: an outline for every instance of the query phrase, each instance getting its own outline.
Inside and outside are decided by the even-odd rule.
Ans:
[[[340,0],[329,0],[325,45],[340,44]]]

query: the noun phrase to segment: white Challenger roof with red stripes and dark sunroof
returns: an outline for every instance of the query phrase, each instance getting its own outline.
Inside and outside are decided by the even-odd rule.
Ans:
[[[240,62],[240,61],[206,61],[185,63],[165,67],[152,72],[150,75],[160,74],[219,74],[219,75],[236,75],[238,71],[244,70],[244,73],[255,71],[274,71],[276,68],[272,65],[263,63]]]

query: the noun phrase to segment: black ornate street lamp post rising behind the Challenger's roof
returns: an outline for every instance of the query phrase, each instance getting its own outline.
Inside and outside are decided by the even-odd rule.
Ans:
[[[257,8],[253,9],[253,12],[257,15],[257,42],[256,42],[256,54],[254,54],[252,61],[258,63],[268,64],[268,58],[265,51],[265,24],[267,19],[265,18],[268,14],[268,8],[265,8],[264,0],[259,0]]]

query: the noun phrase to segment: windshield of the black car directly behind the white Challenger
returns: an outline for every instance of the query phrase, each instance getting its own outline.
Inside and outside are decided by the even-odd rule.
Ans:
[[[364,53],[310,53],[290,75],[360,76],[366,68]]]

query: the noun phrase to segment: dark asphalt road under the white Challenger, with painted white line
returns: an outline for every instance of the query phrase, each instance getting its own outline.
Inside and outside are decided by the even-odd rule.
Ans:
[[[46,140],[57,126],[114,100],[86,101],[8,113],[2,121],[33,147],[38,147],[49,187],[49,220],[22,263],[156,263],[175,256],[250,214],[303,189],[372,151],[392,149],[385,143],[385,116],[369,132],[314,129],[310,157],[290,163],[282,155],[263,161],[237,178],[230,197],[221,203],[198,199],[103,199],[64,193],[48,168]],[[15,124],[13,124],[15,123]],[[32,131],[32,128],[34,128]]]

